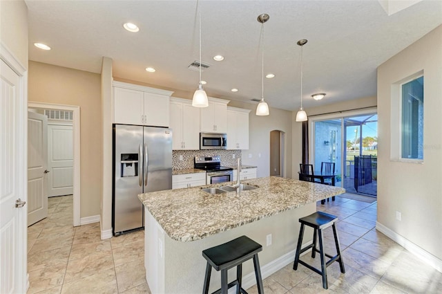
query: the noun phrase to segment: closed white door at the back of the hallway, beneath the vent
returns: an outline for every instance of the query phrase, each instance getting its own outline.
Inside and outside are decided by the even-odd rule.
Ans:
[[[73,194],[73,127],[48,125],[48,196]]]

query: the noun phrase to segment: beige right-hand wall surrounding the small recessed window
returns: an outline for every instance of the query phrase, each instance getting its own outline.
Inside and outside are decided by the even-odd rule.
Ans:
[[[378,67],[378,223],[442,259],[442,26]],[[423,164],[391,160],[396,82],[423,71]],[[396,136],[397,137],[397,136]],[[397,143],[393,143],[396,144]],[[401,221],[396,220],[401,212]]]

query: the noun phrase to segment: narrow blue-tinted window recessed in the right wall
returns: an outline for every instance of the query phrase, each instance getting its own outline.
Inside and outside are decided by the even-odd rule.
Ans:
[[[423,160],[423,76],[401,85],[401,157]]]

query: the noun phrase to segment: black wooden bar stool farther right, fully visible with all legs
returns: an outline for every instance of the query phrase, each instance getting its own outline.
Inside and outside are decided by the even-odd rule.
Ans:
[[[338,220],[338,217],[335,217],[332,214],[327,214],[325,212],[315,212],[313,214],[310,214],[307,217],[302,217],[299,219],[299,222],[301,223],[301,228],[299,231],[299,238],[298,238],[298,246],[296,248],[296,255],[295,255],[295,262],[293,265],[293,269],[298,269],[298,263],[302,264],[303,266],[306,266],[307,268],[313,270],[315,273],[318,273],[323,277],[323,287],[325,289],[328,288],[327,283],[327,266],[333,263],[333,261],[338,261],[340,266],[340,272],[345,273],[344,268],[344,261],[342,254],[340,252],[339,248],[339,239],[338,239],[338,232],[336,232],[336,226],[335,223]],[[302,246],[302,236],[304,235],[304,226],[309,226],[311,228],[314,228],[313,233],[313,243],[309,246],[301,249]],[[323,230],[325,228],[328,228],[329,226],[333,227],[333,235],[334,235],[334,243],[336,245],[336,252],[337,254],[335,256],[328,255],[324,252],[324,246],[323,246]],[[319,250],[316,248],[316,232],[318,232],[319,237]],[[317,268],[314,268],[313,266],[310,266],[305,261],[302,261],[299,259],[299,255],[302,252],[305,252],[307,250],[311,249],[311,257],[315,258],[316,252],[320,254],[320,267],[321,270],[318,270]],[[325,257],[329,257],[329,261],[325,262]]]

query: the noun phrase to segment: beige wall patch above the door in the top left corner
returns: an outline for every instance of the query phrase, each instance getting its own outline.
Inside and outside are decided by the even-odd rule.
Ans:
[[[10,53],[28,68],[28,7],[24,1],[0,1],[0,37]]]

